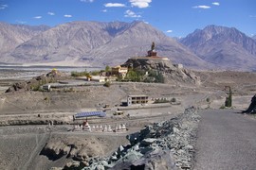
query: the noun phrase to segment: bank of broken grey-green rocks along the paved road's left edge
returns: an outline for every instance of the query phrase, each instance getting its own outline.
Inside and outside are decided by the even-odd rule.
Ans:
[[[180,116],[146,126],[127,136],[129,145],[120,145],[107,158],[68,163],[64,169],[192,169],[196,128],[200,116],[193,107]],[[82,165],[83,163],[83,165]]]

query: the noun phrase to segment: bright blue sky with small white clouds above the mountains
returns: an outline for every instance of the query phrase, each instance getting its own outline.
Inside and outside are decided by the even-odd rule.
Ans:
[[[0,21],[57,26],[72,21],[144,21],[171,37],[208,25],[256,34],[255,0],[0,0]]]

